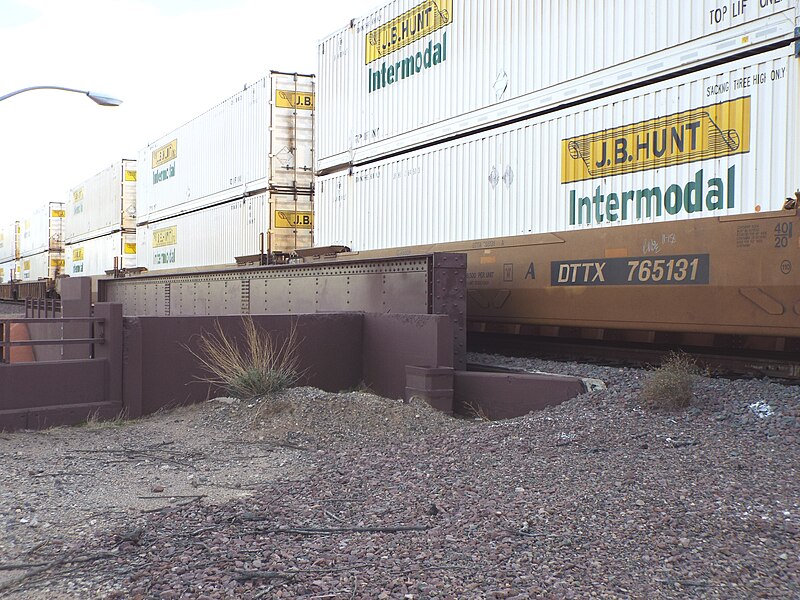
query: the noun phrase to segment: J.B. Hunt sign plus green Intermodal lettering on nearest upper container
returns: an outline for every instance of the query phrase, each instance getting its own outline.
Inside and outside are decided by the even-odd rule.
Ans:
[[[422,39],[453,22],[453,0],[426,0],[385,25],[366,34],[364,63],[370,64]],[[369,68],[369,93],[430,69],[447,60],[447,32],[441,42],[396,61]]]

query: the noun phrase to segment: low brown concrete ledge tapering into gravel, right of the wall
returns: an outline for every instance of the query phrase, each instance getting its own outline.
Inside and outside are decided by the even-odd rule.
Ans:
[[[456,371],[454,391],[455,412],[495,421],[561,404],[586,387],[577,377],[561,375]]]

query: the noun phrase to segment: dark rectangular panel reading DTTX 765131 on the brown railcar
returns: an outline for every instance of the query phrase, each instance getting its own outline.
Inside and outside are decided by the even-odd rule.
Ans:
[[[601,258],[550,263],[550,285],[682,285],[707,284],[708,254],[648,258]]]

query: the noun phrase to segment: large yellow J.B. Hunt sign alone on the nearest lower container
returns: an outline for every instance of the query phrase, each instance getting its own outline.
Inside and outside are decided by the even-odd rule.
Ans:
[[[562,140],[561,183],[750,151],[750,97]]]

